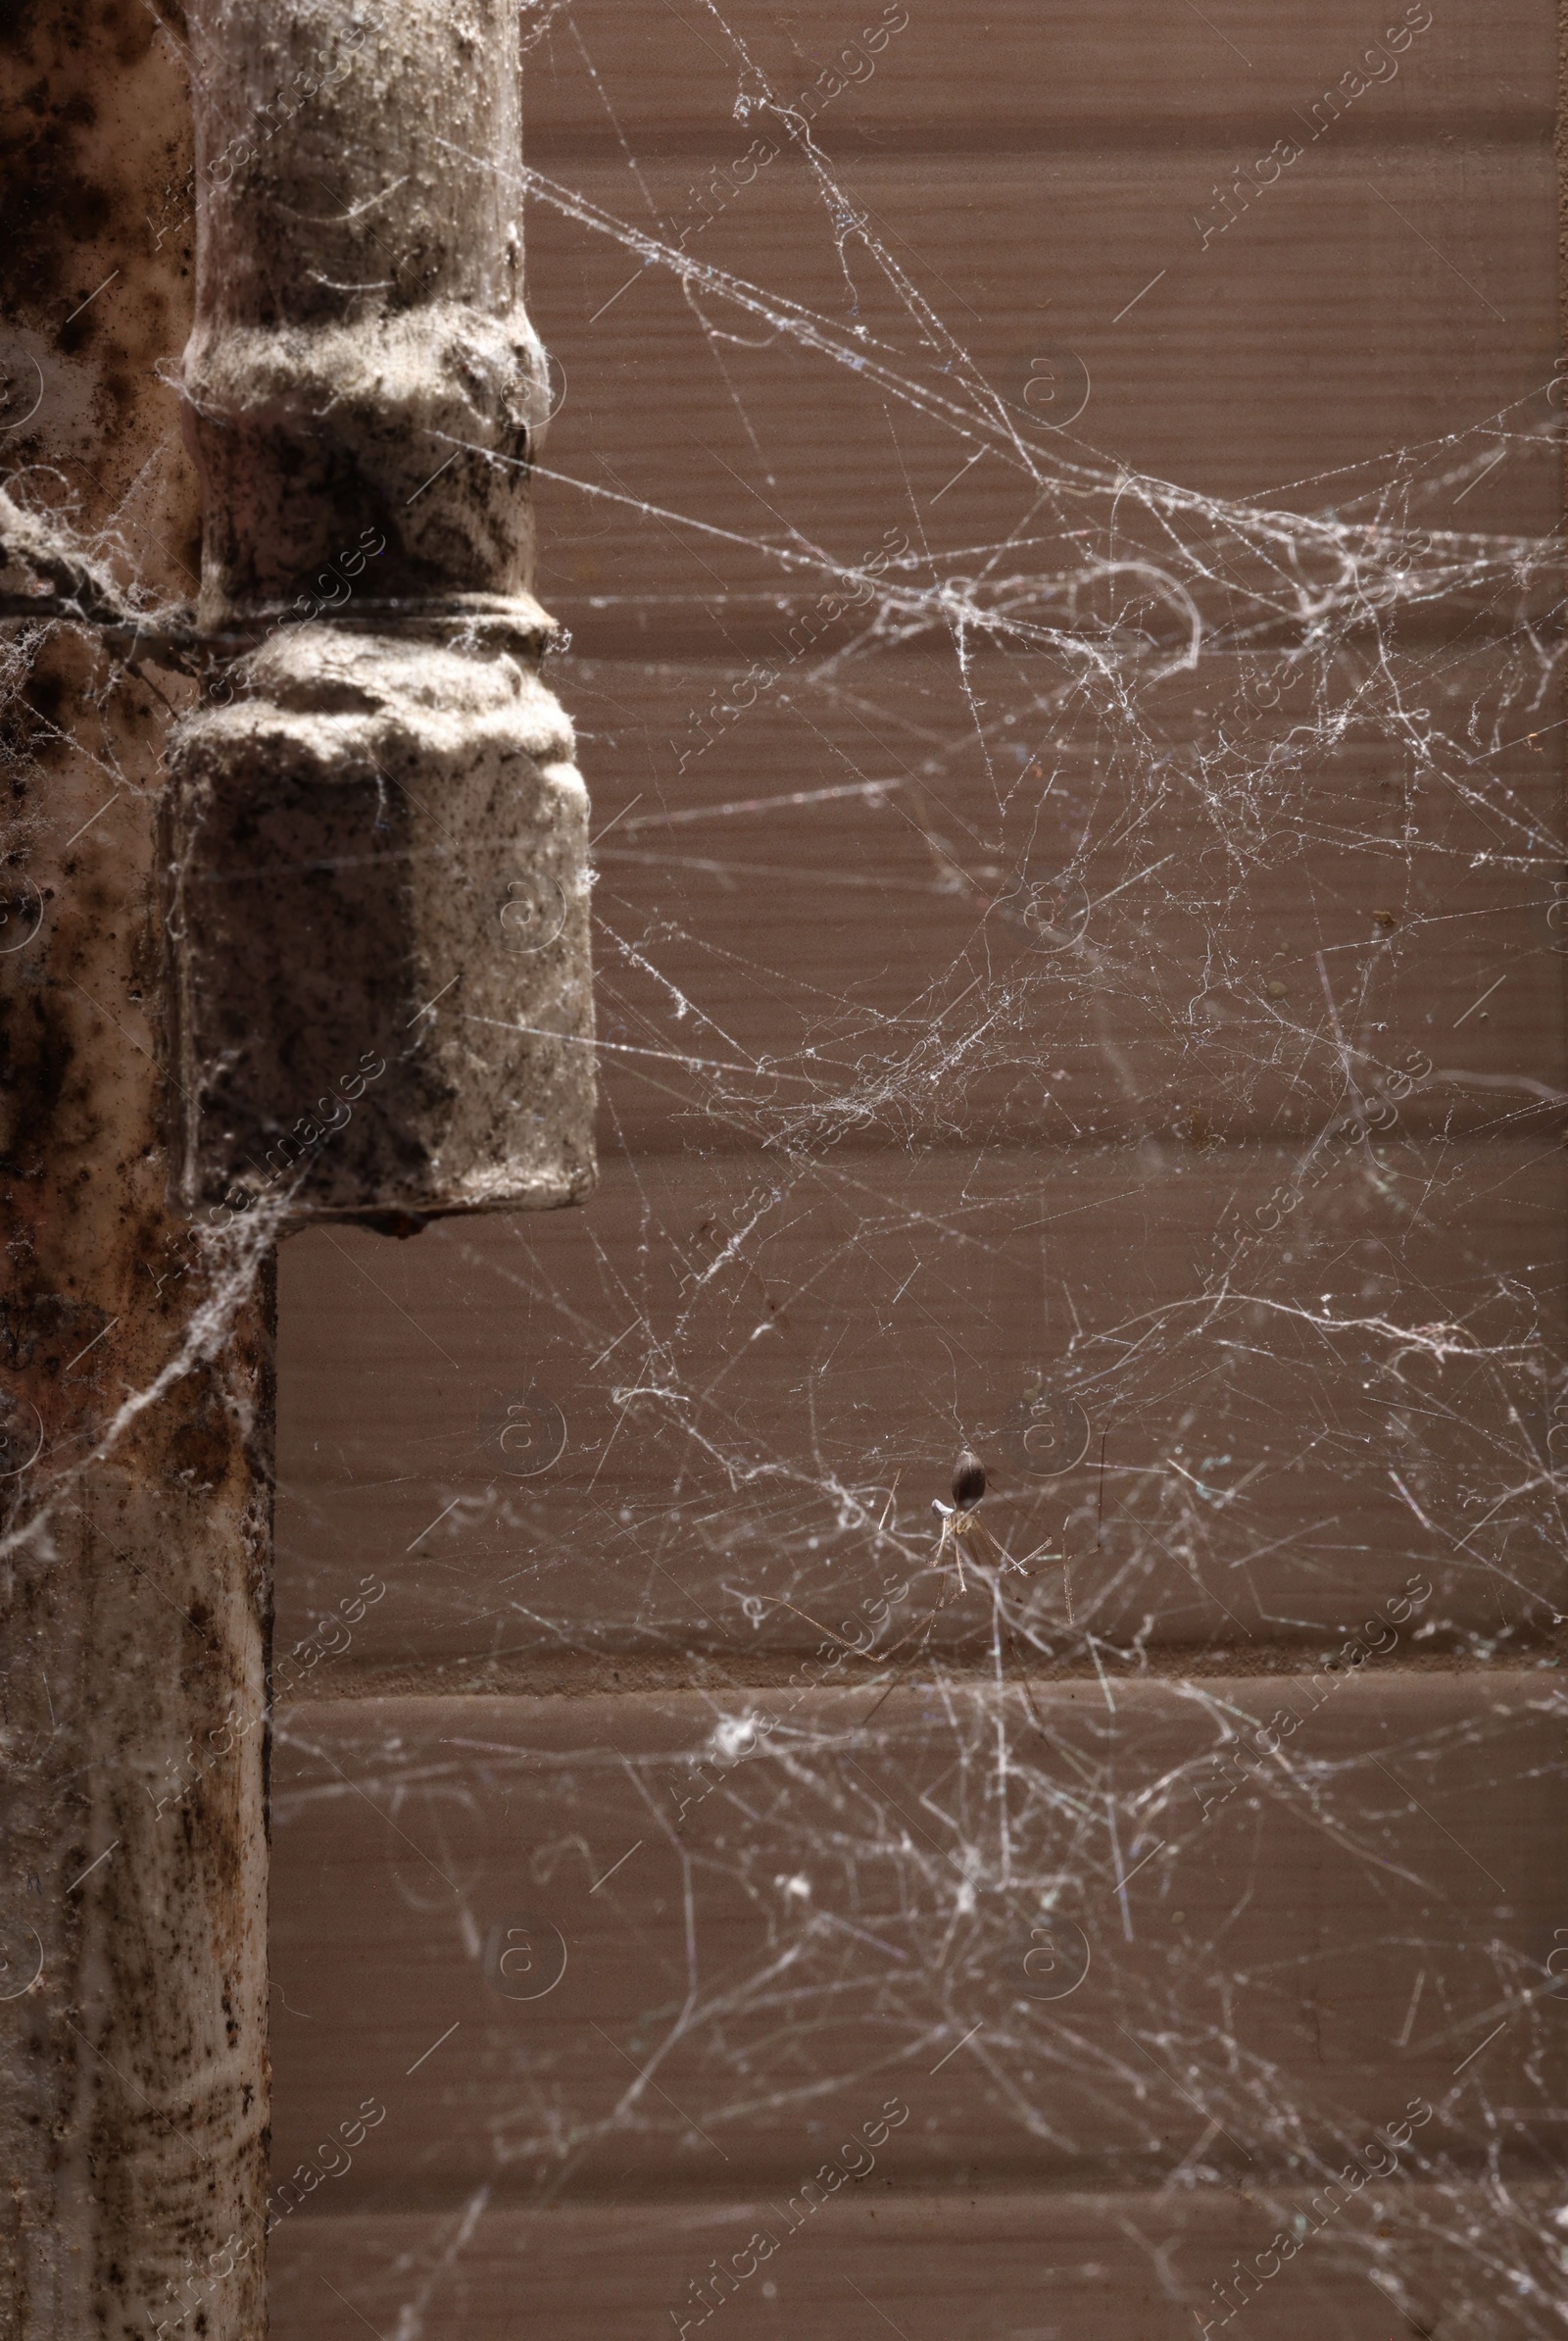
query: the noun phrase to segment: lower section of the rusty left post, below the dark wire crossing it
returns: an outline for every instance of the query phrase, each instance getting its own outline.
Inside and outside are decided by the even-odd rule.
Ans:
[[[267,1278],[166,1206],[157,702],[70,637],[30,688],[68,714],[0,927],[0,2329],[255,2341]]]

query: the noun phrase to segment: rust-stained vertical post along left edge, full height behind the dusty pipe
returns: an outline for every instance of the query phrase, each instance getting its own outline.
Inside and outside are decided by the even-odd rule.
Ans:
[[[178,44],[91,0],[30,12],[7,61],[5,133],[30,159],[0,260],[5,485],[110,529],[96,550],[122,581],[178,592],[194,494],[154,372],[187,307]],[[264,1283],[166,1206],[154,803],[183,688],[91,627],[0,641],[0,2332],[19,2341],[150,2341],[183,2308],[185,2334],[255,2341],[264,2313],[271,1337]]]

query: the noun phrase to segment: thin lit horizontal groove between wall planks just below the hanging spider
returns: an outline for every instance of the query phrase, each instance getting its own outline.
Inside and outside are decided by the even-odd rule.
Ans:
[[[1332,1648],[1346,1627],[1325,1643]],[[1137,1683],[1254,1683],[1318,1674],[1325,1664],[1325,1643],[1259,1643],[1247,1646],[1170,1646],[1147,1653],[1135,1667],[1116,1669],[1109,1681],[1116,1688]],[[1098,1643],[1100,1667],[1091,1650],[1065,1660],[1039,1660],[1027,1669],[1030,1688],[1053,1683],[1100,1683],[1102,1669],[1126,1660],[1128,1653],[1114,1643]],[[300,1707],[353,1707],[363,1700],[583,1700],[583,1697],[714,1697],[733,1690],[789,1690],[810,1650],[747,1653],[725,1660],[721,1653],[599,1653],[599,1650],[517,1650],[503,1657],[454,1657],[454,1660],[344,1660],[330,1676],[314,1678],[304,1697],[288,1700],[288,1709]],[[1554,1671],[1568,1662],[1568,1634],[1542,1632],[1519,1634],[1509,1655],[1474,1657],[1458,1636],[1446,1648],[1388,1657],[1364,1669],[1364,1678],[1388,1681],[1435,1681],[1465,1676],[1470,1683],[1498,1683],[1500,1678],[1535,1676]],[[934,1650],[922,1669],[910,1669],[908,1683],[929,1678],[941,1669],[945,1681],[962,1688],[990,1688],[995,1683],[995,1660],[990,1646],[971,1650]],[[821,1686],[812,1697],[843,1697],[885,1683],[887,1667],[866,1667],[838,1683]],[[1018,1688],[1018,1669],[1009,1667],[1006,1683]]]

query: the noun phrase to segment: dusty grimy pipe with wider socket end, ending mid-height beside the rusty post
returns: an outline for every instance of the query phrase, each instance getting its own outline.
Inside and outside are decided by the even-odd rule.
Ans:
[[[510,0],[197,0],[201,623],[171,742],[176,1192],[592,1185],[587,796],[538,677]]]

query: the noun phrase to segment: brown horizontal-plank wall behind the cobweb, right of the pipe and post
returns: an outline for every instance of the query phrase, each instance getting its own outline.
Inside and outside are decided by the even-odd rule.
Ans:
[[[40,164],[7,384],[194,595],[183,30],[112,23],[68,152],[164,192]],[[442,171],[527,250],[599,1187],[281,1250],[271,2329],[1556,2334],[1556,12],[531,0],[515,173],[468,30],[473,138],[318,155],[323,274],[412,307]],[[225,595],[342,480],[302,379]],[[169,2332],[243,2329],[218,2245]]]

